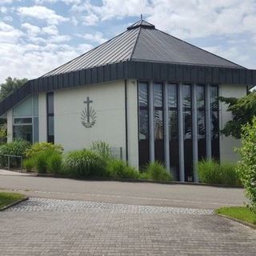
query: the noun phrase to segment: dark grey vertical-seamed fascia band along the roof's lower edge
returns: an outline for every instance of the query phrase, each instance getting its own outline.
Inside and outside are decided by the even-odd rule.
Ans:
[[[103,71],[102,71],[103,69]],[[138,70],[139,69],[139,70]],[[170,70],[171,73],[170,73]],[[86,86],[98,82],[111,82],[122,79],[143,79],[158,80],[170,82],[210,82],[226,83],[252,86],[256,85],[256,70],[223,68],[216,66],[192,66],[176,65],[172,63],[161,62],[116,62],[103,66],[95,66],[85,70],[78,70],[79,74],[85,75],[85,78],[78,79],[75,86]],[[72,74],[71,74],[72,73]],[[25,85],[10,94],[6,99],[0,102],[0,115],[5,114],[13,108],[22,99],[30,94],[40,92],[61,90],[74,87],[69,84],[70,75],[73,78],[74,72],[65,74],[56,74],[50,77],[37,78],[26,82]],[[86,77],[86,74],[90,74]],[[91,78],[91,74],[101,74],[101,78]],[[201,75],[202,74],[202,75]]]

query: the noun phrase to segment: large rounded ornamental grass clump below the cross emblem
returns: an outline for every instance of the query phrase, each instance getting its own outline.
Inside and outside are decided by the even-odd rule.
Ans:
[[[66,154],[63,168],[66,174],[84,177],[102,174],[104,171],[102,158],[90,150],[74,150]]]

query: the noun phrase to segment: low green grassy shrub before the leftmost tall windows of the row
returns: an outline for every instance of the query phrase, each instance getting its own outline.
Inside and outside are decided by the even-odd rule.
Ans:
[[[141,174],[143,178],[153,179],[154,181],[171,181],[172,175],[166,170],[160,162],[151,162],[146,166],[146,171]]]

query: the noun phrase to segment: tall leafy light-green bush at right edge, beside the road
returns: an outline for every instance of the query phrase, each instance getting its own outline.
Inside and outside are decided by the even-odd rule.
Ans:
[[[251,210],[256,213],[256,117],[252,124],[242,127],[242,147],[238,153],[241,160],[237,171],[245,187],[246,197],[250,200]]]

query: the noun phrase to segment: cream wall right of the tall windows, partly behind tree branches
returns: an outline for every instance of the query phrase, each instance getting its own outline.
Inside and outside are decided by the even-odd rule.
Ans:
[[[222,97],[234,97],[241,98],[246,95],[246,86],[241,85],[221,85],[219,87],[219,95]],[[227,105],[220,102],[219,105],[219,126],[222,130],[226,122],[232,119],[230,112],[226,111]],[[240,140],[237,140],[231,136],[226,137],[220,135],[220,160],[235,162],[238,160],[238,154],[234,153],[234,148],[241,146]]]

